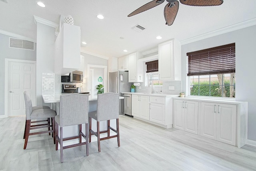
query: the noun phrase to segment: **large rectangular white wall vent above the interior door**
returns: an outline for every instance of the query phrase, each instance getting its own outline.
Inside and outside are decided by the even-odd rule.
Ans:
[[[28,40],[10,38],[10,44],[9,45],[10,45],[10,48],[34,50],[34,42],[30,42]]]

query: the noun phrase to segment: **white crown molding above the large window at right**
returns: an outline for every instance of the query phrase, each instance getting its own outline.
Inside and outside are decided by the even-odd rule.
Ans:
[[[214,36],[218,36],[220,34],[233,32],[233,31],[240,30],[242,28],[247,28],[247,27],[254,26],[254,25],[256,25],[256,18],[253,18],[251,20],[246,20],[244,22],[240,22],[240,23],[234,24],[232,26],[228,26],[228,27],[224,27],[224,28],[221,28],[221,29],[218,29],[218,30],[214,30],[212,32],[208,32],[208,33],[205,33],[205,34],[194,36],[192,38],[182,40],[182,41],[180,41],[180,43],[181,43],[181,45],[189,44],[189,43],[192,43],[192,42],[196,42],[196,41],[199,41],[199,40],[204,40],[206,38],[211,38],[211,37],[214,37]]]

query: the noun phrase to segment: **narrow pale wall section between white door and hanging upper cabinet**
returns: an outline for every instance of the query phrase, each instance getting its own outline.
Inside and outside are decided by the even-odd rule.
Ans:
[[[42,73],[54,73],[55,28],[37,22],[36,32],[36,101],[42,105]]]

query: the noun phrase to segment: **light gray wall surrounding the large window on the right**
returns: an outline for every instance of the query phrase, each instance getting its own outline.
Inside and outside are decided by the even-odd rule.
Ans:
[[[248,139],[256,141],[256,26],[182,46],[182,91],[186,91],[186,53],[236,43],[236,101],[248,101]]]

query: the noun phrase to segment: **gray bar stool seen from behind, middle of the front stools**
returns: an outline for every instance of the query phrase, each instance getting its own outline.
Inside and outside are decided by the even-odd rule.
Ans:
[[[71,93],[60,96],[60,115],[55,116],[56,126],[56,150],[58,150],[58,143],[60,143],[60,162],[63,163],[63,149],[86,145],[86,155],[89,155],[88,149],[88,104],[89,95]],[[82,123],[85,123],[85,135],[82,133]],[[79,135],[74,137],[63,138],[62,128],[70,125],[78,125]],[[58,126],[60,126],[60,137],[58,133]],[[82,143],[82,136],[86,142]],[[63,147],[63,141],[70,139],[79,139],[79,143],[67,145]]]

